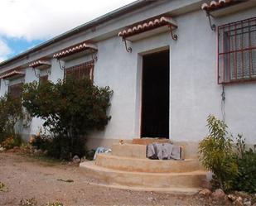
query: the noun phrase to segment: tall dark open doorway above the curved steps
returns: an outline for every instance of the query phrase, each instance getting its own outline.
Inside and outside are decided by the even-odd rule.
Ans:
[[[169,138],[169,50],[143,56],[141,137]]]

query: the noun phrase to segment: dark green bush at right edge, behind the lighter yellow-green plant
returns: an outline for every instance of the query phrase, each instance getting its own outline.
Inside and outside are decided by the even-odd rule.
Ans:
[[[256,152],[246,149],[245,139],[239,135],[236,143],[239,175],[235,178],[234,190],[256,193]]]

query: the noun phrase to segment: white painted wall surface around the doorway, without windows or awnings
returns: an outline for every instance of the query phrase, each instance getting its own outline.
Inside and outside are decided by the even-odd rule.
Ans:
[[[162,12],[178,10],[187,1],[169,1],[158,7],[151,7],[147,12],[137,12],[119,22],[109,22],[99,26],[96,31],[115,31],[128,24],[138,22],[142,17],[156,15]],[[200,1],[191,1],[191,3]],[[226,17],[215,19],[217,25],[254,17],[256,8],[243,12],[236,12]],[[221,117],[220,94],[221,86],[217,84],[217,34],[210,30],[205,12],[198,9],[196,12],[175,17],[178,24],[176,34],[178,40],[171,40],[166,32],[157,36],[148,36],[140,41],[131,43],[133,52],[129,54],[124,49],[123,41],[116,34],[103,38],[98,45],[98,61],[94,68],[94,83],[99,86],[109,85],[114,90],[109,114],[112,116],[109,125],[103,132],[93,132],[90,137],[98,139],[118,139],[139,137],[140,130],[140,99],[141,99],[141,67],[142,55],[159,48],[170,48],[170,137],[175,141],[200,141],[207,134],[206,117],[213,113]],[[97,39],[96,33],[83,33],[70,37],[62,47],[70,46],[77,41],[84,41],[85,36]],[[99,32],[100,33],[100,32]],[[85,35],[85,36],[83,36]],[[99,35],[99,34],[98,34]],[[83,36],[83,37],[82,37]],[[99,36],[104,36],[100,34]],[[49,55],[60,50],[61,44],[51,46],[36,53]],[[31,55],[33,56],[33,55]],[[77,60],[61,62],[61,65],[70,67],[78,65],[90,56]],[[24,60],[14,65],[25,64]],[[27,63],[26,63],[27,64]],[[11,67],[11,66],[9,66]],[[26,69],[26,82],[35,79],[31,69]],[[51,60],[51,74],[49,79],[56,82],[63,78],[63,71],[55,59]],[[4,93],[3,83],[0,93]],[[249,143],[256,143],[256,84],[233,84],[226,86],[225,113],[229,129],[244,133]],[[33,119],[27,134],[36,133],[41,120]]]

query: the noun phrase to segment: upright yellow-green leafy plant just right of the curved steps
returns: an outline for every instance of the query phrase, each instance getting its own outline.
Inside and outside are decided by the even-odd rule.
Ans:
[[[212,186],[226,191],[232,189],[233,180],[238,175],[233,140],[228,137],[225,122],[213,115],[207,118],[207,122],[209,135],[200,141],[200,161],[206,170],[214,174]]]

